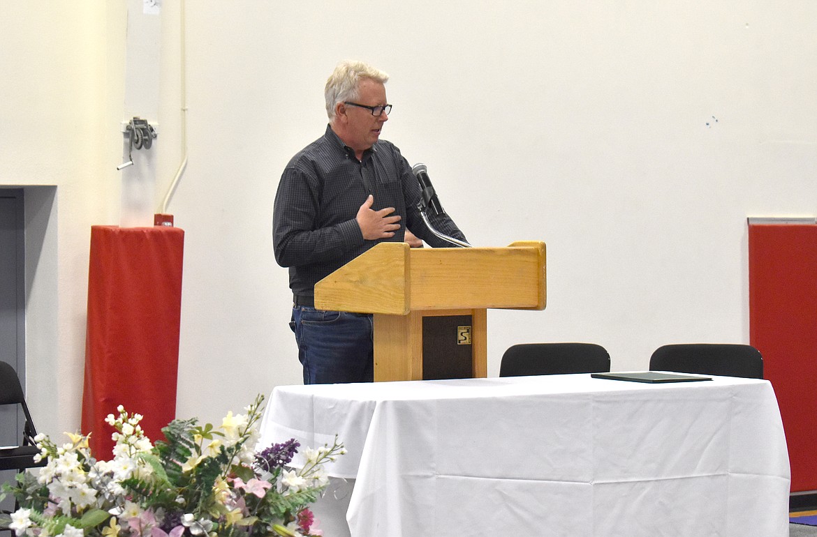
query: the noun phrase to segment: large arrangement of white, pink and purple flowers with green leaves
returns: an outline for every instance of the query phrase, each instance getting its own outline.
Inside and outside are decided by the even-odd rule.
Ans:
[[[220,428],[176,419],[151,444],[122,406],[106,421],[115,429],[114,458],[96,460],[88,437],[68,434],[61,446],[35,438],[45,467],[17,476],[7,493],[20,508],[12,530],[30,537],[314,537],[309,504],[328,485],[323,465],[342,444],[306,449],[306,464],[288,468],[298,442],[255,452],[263,397],[246,415],[229,412]]]

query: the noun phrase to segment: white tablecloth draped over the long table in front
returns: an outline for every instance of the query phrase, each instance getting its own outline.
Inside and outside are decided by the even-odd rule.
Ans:
[[[349,451],[353,537],[784,537],[769,382],[549,375],[275,388],[262,442]],[[327,535],[333,537],[333,535]]]

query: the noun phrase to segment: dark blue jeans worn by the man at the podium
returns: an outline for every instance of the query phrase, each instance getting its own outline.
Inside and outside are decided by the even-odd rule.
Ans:
[[[295,306],[289,327],[295,332],[304,384],[373,381],[371,315]]]

